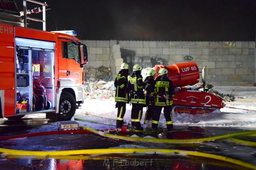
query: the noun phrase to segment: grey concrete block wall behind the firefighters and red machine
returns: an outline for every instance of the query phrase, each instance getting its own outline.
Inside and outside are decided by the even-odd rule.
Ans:
[[[255,42],[236,42],[235,48],[222,48],[223,42],[82,40],[82,43],[88,47],[89,65],[111,67],[113,79],[124,57],[148,56],[161,58],[163,65],[193,61],[200,71],[207,65],[206,83],[214,86],[254,82]]]

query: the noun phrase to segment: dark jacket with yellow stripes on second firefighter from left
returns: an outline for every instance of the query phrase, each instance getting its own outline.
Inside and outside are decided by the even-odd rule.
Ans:
[[[136,74],[137,73],[137,74]],[[143,80],[142,75],[138,75],[140,71],[132,73],[129,79],[129,91],[131,97],[131,103],[146,104],[146,97],[143,91]]]

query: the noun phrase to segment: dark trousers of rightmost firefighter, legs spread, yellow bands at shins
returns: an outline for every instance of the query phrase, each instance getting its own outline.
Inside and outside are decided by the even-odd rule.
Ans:
[[[166,126],[168,131],[173,130],[173,120],[172,120],[172,106],[155,106],[155,115],[152,120],[152,129],[157,129],[162,108],[164,108],[164,117],[166,120]]]

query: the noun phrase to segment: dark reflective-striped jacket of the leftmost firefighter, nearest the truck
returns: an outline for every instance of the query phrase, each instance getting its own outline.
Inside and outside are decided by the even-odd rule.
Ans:
[[[129,70],[123,69],[119,71],[116,76],[114,85],[116,87],[115,91],[115,102],[125,102],[129,103],[129,94],[128,94],[128,79],[127,76]]]

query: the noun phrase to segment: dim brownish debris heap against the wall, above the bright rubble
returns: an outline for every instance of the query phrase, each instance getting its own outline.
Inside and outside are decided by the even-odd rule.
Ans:
[[[100,66],[100,67],[92,67],[92,66],[84,66],[84,81],[85,82],[96,82],[105,80],[106,82],[112,81],[112,72],[108,67]]]

